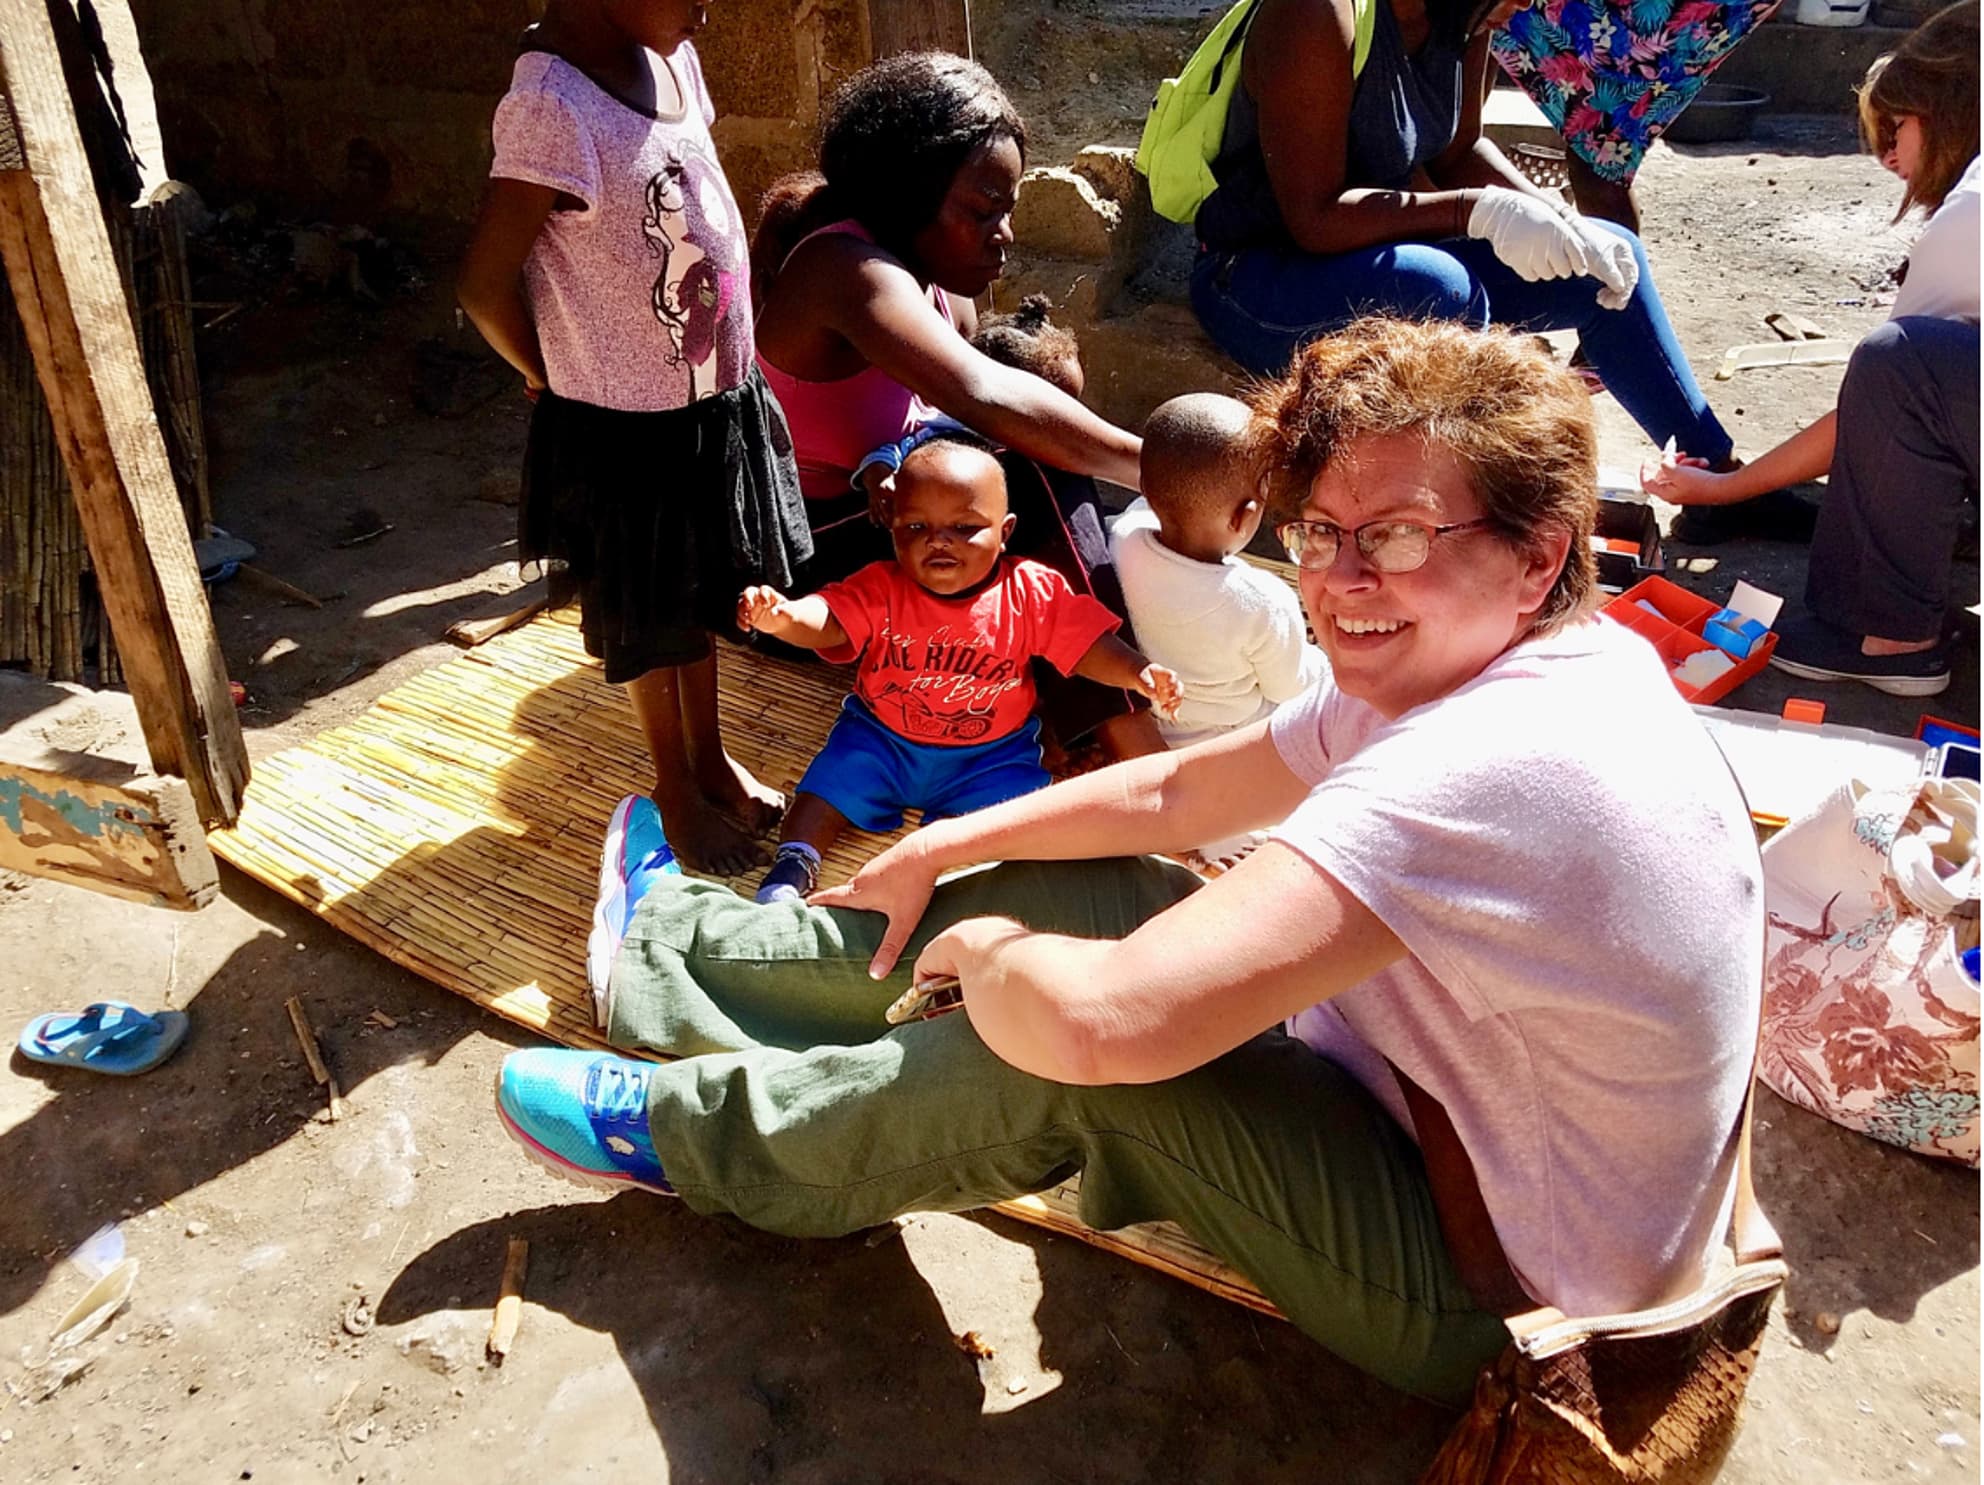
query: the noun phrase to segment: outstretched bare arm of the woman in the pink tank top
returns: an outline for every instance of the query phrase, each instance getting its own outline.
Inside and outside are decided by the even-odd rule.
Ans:
[[[1143,439],[1059,387],[982,355],[944,320],[895,258],[853,238],[817,244],[831,276],[827,324],[871,363],[988,439],[1055,469],[1137,488]]]

